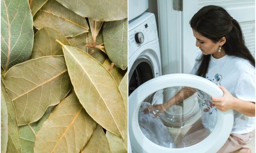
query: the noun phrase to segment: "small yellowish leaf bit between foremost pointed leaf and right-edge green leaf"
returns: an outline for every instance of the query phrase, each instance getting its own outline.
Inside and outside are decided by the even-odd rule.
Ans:
[[[119,67],[116,67],[115,65],[111,67],[111,60],[107,58],[104,63],[102,64],[108,71],[111,73],[115,81],[117,82],[117,85],[119,86],[122,78],[124,77],[124,74],[126,73],[125,70],[120,69]]]

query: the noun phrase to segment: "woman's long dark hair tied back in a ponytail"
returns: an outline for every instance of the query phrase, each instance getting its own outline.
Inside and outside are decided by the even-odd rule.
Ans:
[[[255,67],[255,59],[245,46],[245,40],[239,23],[220,6],[208,5],[202,7],[189,22],[192,29],[202,36],[218,42],[222,37],[226,43],[222,46],[227,55],[248,60]],[[205,77],[211,55],[203,55],[196,75]]]

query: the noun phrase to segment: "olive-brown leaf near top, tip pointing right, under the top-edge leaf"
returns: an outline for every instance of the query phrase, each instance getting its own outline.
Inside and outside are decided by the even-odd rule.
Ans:
[[[70,1],[71,2],[71,1]],[[82,16],[59,4],[56,0],[48,0],[34,16],[37,29],[52,27],[64,36],[77,36],[88,32],[88,24]]]

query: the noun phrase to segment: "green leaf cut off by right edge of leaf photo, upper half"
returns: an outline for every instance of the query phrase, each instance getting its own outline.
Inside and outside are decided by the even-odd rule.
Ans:
[[[109,59],[121,69],[127,67],[127,18],[104,22],[103,40]]]

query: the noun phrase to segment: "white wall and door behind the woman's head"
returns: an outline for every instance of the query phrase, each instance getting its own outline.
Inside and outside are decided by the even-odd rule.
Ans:
[[[173,10],[173,0],[158,0],[162,74],[189,73],[200,50],[189,25],[205,5],[223,6],[243,30],[245,43],[255,58],[255,0],[183,0],[183,11]]]

